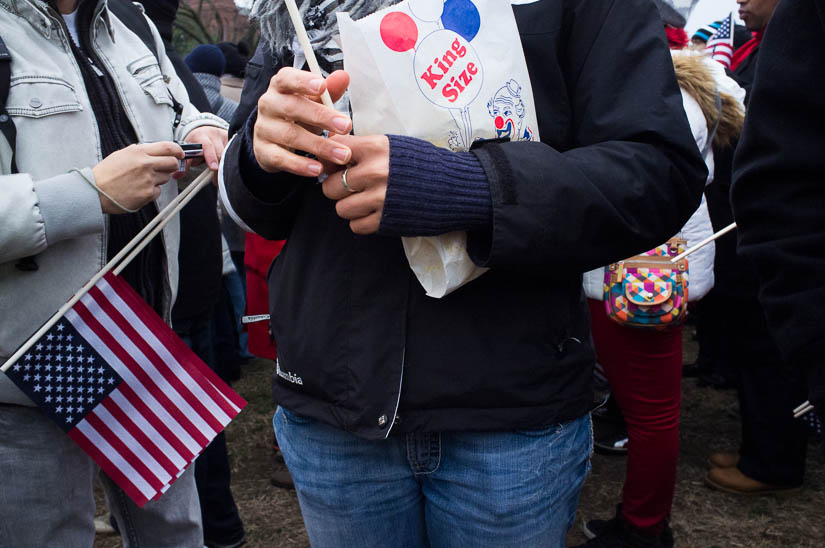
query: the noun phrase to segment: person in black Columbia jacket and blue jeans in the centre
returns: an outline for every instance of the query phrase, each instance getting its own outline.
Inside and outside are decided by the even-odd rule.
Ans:
[[[249,228],[287,239],[269,274],[273,422],[310,542],[563,546],[592,446],[581,273],[676,233],[707,175],[656,9],[514,5],[545,141],[451,152],[340,135],[349,118],[315,102],[348,84],[334,16],[310,11],[334,71],[320,78],[295,62],[281,5],[256,4],[264,38],[221,194]],[[490,271],[427,297],[399,236],[453,230]]]

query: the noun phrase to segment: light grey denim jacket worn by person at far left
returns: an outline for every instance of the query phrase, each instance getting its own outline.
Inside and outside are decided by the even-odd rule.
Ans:
[[[148,19],[147,19],[148,20]],[[92,24],[95,51],[112,75],[140,142],[182,140],[202,125],[226,127],[190,103],[154,25],[158,58],[99,0]],[[17,127],[17,167],[0,136],[0,363],[65,303],[106,262],[107,216],[98,193],[72,168],[94,180],[101,160],[97,122],[61,16],[41,0],[0,1],[0,36],[11,53],[6,109]],[[168,88],[168,90],[167,90]],[[169,91],[184,105],[173,131]],[[177,185],[163,187],[163,209]],[[178,283],[179,230],[163,231],[167,313]],[[36,255],[39,269],[15,267]],[[31,405],[5,375],[0,402]]]

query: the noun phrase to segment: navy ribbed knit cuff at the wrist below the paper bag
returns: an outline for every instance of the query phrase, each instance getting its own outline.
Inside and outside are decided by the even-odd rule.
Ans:
[[[378,233],[435,236],[483,230],[493,218],[490,185],[471,152],[389,135],[390,175]]]

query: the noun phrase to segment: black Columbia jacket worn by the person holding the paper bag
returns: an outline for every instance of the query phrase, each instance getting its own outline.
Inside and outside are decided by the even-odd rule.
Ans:
[[[543,142],[475,150],[493,222],[468,250],[491,270],[442,299],[425,296],[399,238],[353,235],[313,180],[245,185],[241,139],[229,147],[233,209],[264,237],[287,238],[269,277],[281,405],[365,438],[538,428],[588,411],[581,273],[675,234],[707,173],[652,2],[513,10]],[[236,129],[291,64],[256,57]]]

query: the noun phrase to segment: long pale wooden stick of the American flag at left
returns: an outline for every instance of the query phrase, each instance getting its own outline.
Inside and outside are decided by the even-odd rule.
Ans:
[[[211,176],[212,176],[212,171],[207,169],[206,171],[201,173],[198,176],[198,178],[195,179],[192,182],[192,184],[190,184],[188,187],[186,187],[183,192],[178,194],[178,196],[176,196],[175,199],[172,200],[169,203],[169,205],[167,205],[165,208],[163,208],[163,211],[160,211],[155,216],[154,219],[152,219],[150,222],[148,222],[146,224],[145,227],[143,227],[143,230],[141,230],[137,234],[137,236],[132,238],[132,240],[129,243],[127,243],[123,247],[123,249],[120,250],[120,252],[117,255],[112,257],[112,259],[108,263],[106,263],[106,266],[104,266],[100,270],[100,272],[98,272],[97,274],[92,276],[91,280],[86,282],[86,284],[83,287],[81,287],[77,291],[77,293],[75,293],[74,296],[71,299],[69,299],[68,302],[66,302],[66,304],[61,306],[60,309],[57,312],[55,312],[54,315],[51,318],[49,318],[49,320],[46,323],[44,323],[43,326],[35,332],[34,335],[29,337],[29,339],[23,344],[23,346],[18,348],[17,352],[12,354],[12,356],[8,360],[6,360],[6,363],[4,363],[2,367],[0,367],[0,371],[6,372],[12,365],[14,365],[14,363],[17,360],[20,359],[20,357],[23,354],[28,352],[29,349],[34,345],[34,343],[36,343],[40,339],[40,337],[42,337],[46,333],[46,331],[51,329],[54,326],[54,324],[56,324],[58,321],[60,321],[60,318],[62,318],[66,314],[66,312],[68,312],[69,309],[71,307],[73,307],[75,305],[75,303],[77,303],[77,301],[82,299],[83,296],[86,295],[86,293],[88,293],[89,290],[92,287],[94,287],[94,285],[98,281],[100,281],[100,279],[103,276],[106,275],[106,273],[108,273],[110,270],[112,270],[112,268],[114,268],[118,264],[118,262],[120,262],[120,260],[123,259],[123,257],[125,257],[132,250],[132,248],[134,246],[136,246],[139,243],[141,243],[142,241],[144,241],[143,239],[147,234],[149,234],[150,232],[152,232],[152,234],[157,234],[157,232],[153,232],[155,227],[158,224],[163,223],[163,225],[161,226],[161,228],[163,228],[163,226],[165,226],[174,217],[174,215],[177,212],[180,211],[180,208],[178,206],[182,202],[188,201],[188,199],[190,199],[189,198],[190,195],[194,196],[193,192],[196,190],[195,185],[201,184],[203,181],[209,181],[209,178]],[[174,183],[167,183],[167,184],[174,184]],[[202,188],[202,186],[203,185],[201,184],[200,187],[198,187],[198,190],[200,188]],[[146,240],[148,241],[149,239],[151,239],[151,237],[152,236],[149,236],[148,238],[146,238]]]

